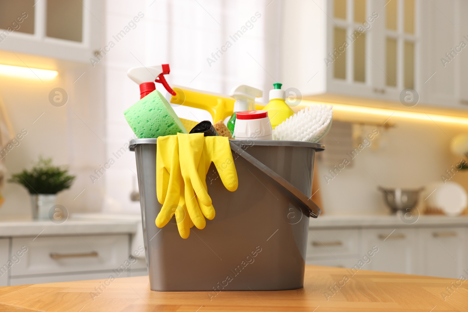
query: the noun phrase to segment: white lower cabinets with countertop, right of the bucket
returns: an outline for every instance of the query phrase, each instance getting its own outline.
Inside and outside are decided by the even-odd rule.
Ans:
[[[420,215],[416,222],[407,224],[398,215],[325,215],[311,219],[309,225],[312,233],[342,233],[336,236],[340,238],[351,237],[349,233],[353,232],[360,234],[352,237],[359,253],[342,253],[336,259],[333,255],[314,257],[309,232],[307,264],[347,267],[351,260],[366,260],[364,255],[376,246],[379,251],[362,269],[457,279],[467,274],[468,216]]]

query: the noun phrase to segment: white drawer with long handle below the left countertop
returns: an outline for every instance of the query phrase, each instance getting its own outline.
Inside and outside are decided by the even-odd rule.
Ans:
[[[128,235],[13,238],[12,250],[28,251],[11,276],[117,269],[129,257]]]

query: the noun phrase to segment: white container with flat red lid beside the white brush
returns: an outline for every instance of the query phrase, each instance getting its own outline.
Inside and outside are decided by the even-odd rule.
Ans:
[[[237,112],[234,126],[236,140],[272,140],[270,118],[266,110],[248,110]]]

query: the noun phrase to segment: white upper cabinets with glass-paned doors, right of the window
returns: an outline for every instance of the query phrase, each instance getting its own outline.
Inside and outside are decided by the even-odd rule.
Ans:
[[[468,44],[467,10],[461,0],[288,1],[285,87],[306,99],[351,96],[398,105],[402,90],[414,88],[420,103],[468,109],[468,48],[445,67],[441,62],[461,41]]]

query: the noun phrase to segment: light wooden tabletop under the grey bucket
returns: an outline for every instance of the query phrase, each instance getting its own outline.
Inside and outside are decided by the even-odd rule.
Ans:
[[[468,274],[467,274],[468,275]],[[465,275],[466,277],[468,277]],[[348,279],[344,279],[347,276]],[[468,282],[359,270],[307,266],[304,288],[278,291],[160,292],[147,276],[117,278],[98,295],[105,280],[0,287],[0,311],[467,311]],[[338,286],[335,286],[336,285]],[[453,283],[453,284],[451,284]],[[339,286],[339,284],[344,286]],[[455,286],[453,286],[455,285]],[[335,293],[329,287],[335,287]],[[340,289],[338,289],[340,287]],[[452,287],[451,294],[446,287]],[[94,296],[92,295],[94,293]],[[446,297],[442,296],[446,294]],[[444,301],[445,299],[445,301]]]

